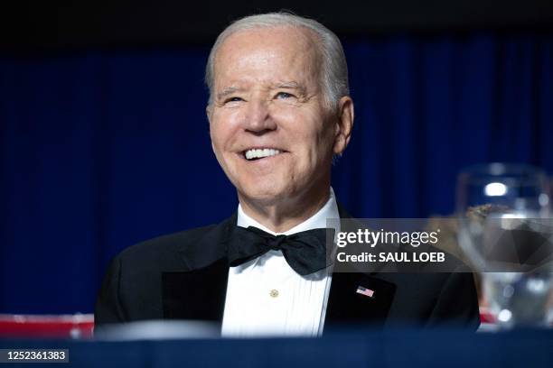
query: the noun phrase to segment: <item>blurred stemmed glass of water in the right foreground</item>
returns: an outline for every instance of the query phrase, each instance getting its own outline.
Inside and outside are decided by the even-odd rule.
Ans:
[[[491,163],[457,179],[458,241],[480,272],[500,327],[550,324],[553,302],[548,180],[538,168]]]

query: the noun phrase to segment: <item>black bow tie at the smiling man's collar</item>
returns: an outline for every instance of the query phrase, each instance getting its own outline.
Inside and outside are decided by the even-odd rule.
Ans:
[[[254,226],[235,226],[229,241],[230,266],[239,266],[270,250],[282,251],[286,262],[302,276],[327,267],[326,235],[333,229],[313,229],[292,235],[271,235]]]

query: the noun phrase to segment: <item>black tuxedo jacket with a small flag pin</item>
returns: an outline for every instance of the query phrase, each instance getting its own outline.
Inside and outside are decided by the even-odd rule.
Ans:
[[[341,216],[343,216],[341,209]],[[145,319],[222,321],[227,242],[237,215],[219,225],[136,244],[109,265],[96,326]],[[374,298],[356,292],[374,290]],[[324,322],[333,325],[441,327],[480,324],[471,273],[334,273]]]

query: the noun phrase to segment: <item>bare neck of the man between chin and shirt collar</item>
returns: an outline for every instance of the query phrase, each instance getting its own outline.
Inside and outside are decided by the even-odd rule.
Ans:
[[[329,197],[330,186],[308,191],[296,198],[270,203],[247,198],[239,193],[240,206],[244,213],[275,233],[284,233],[314,216]]]

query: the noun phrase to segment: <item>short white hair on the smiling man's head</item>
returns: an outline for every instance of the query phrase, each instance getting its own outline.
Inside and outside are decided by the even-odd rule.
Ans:
[[[349,96],[350,87],[348,84],[348,66],[342,49],[342,43],[338,37],[323,24],[313,19],[303,18],[290,13],[267,13],[250,15],[231,23],[217,37],[217,41],[211,48],[210,57],[205,69],[205,83],[210,88],[210,101],[213,98],[214,62],[220,45],[231,34],[256,28],[278,28],[278,27],[303,27],[311,30],[318,37],[315,42],[321,60],[321,86],[323,95],[333,108],[338,106],[338,101],[344,96]]]

